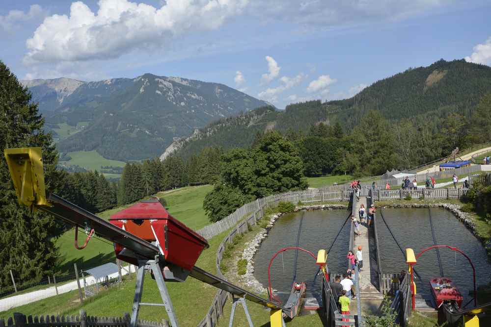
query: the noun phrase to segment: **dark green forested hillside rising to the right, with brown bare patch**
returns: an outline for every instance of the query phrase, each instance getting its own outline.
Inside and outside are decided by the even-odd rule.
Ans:
[[[439,60],[431,66],[410,68],[377,81],[350,99],[296,103],[285,111],[263,108],[224,119],[174,146],[180,148],[180,155],[188,157],[206,146],[224,149],[250,146],[256,133],[273,128],[287,135],[305,134],[311,125],[320,122],[331,126],[337,122],[348,132],[370,110],[388,119],[389,128],[398,130],[398,135],[418,131],[422,133],[421,138],[427,139],[441,130],[452,113],[469,119],[480,99],[490,91],[489,66],[464,60]],[[441,151],[446,149],[434,146],[432,153],[423,155],[422,159],[435,152],[440,155]]]

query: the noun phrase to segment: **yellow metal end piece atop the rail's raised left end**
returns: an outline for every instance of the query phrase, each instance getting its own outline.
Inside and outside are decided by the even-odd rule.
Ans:
[[[5,149],[8,170],[20,204],[48,205],[41,148]]]

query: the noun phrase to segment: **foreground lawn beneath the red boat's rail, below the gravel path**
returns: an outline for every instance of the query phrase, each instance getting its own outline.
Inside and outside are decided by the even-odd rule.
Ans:
[[[196,263],[198,267],[212,274],[216,273],[216,252],[226,234],[227,232],[223,232],[209,240],[210,248],[201,254]],[[180,326],[196,326],[205,316],[217,292],[215,287],[192,277],[189,277],[184,283],[167,283],[167,288],[177,312]],[[121,286],[104,291],[82,305],[77,302],[78,291],[72,291],[13,308],[0,313],[0,317],[7,318],[12,316],[14,312],[21,312],[26,315],[75,315],[81,309],[94,316],[122,316],[124,312],[131,312],[134,292],[135,274],[132,274]],[[142,301],[162,303],[155,280],[150,275],[145,276]],[[161,321],[167,316],[163,308],[142,306],[139,311],[139,318]]]

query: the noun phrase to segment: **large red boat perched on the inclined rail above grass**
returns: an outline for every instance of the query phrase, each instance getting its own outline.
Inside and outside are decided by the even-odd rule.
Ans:
[[[176,266],[172,273],[164,269],[168,279],[186,279],[201,252],[209,247],[206,239],[172,217],[158,200],[140,201],[112,215],[109,222],[155,244],[167,266]],[[114,250],[118,259],[138,264],[131,250],[118,243],[114,243]]]

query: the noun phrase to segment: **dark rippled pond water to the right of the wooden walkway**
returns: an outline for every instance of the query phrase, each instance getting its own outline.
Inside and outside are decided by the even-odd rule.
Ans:
[[[430,228],[428,208],[382,209],[383,217],[395,238],[403,248],[412,248],[417,254],[434,245]],[[470,257],[476,268],[476,284],[485,285],[491,280],[491,265],[486,250],[479,240],[448,210],[431,208],[436,242],[439,245],[457,247]],[[398,273],[407,269],[405,256],[397,247],[379,214],[377,216],[379,249],[382,273]],[[440,257],[445,277],[450,277],[464,295],[464,303],[469,301],[472,290],[472,268],[467,259],[450,249],[440,249]],[[436,250],[425,252],[415,266],[422,280],[416,278],[417,292],[430,293],[429,280],[440,276]]]

